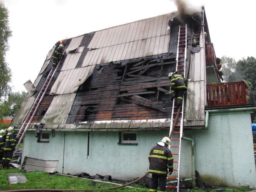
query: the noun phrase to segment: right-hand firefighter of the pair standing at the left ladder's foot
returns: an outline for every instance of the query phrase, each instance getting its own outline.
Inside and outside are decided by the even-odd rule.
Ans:
[[[3,160],[2,160],[2,167],[3,168],[10,168],[9,163],[12,160],[13,151],[15,150],[16,140],[13,134],[13,127],[9,127],[7,129],[8,134],[5,139],[5,146],[3,148]]]

